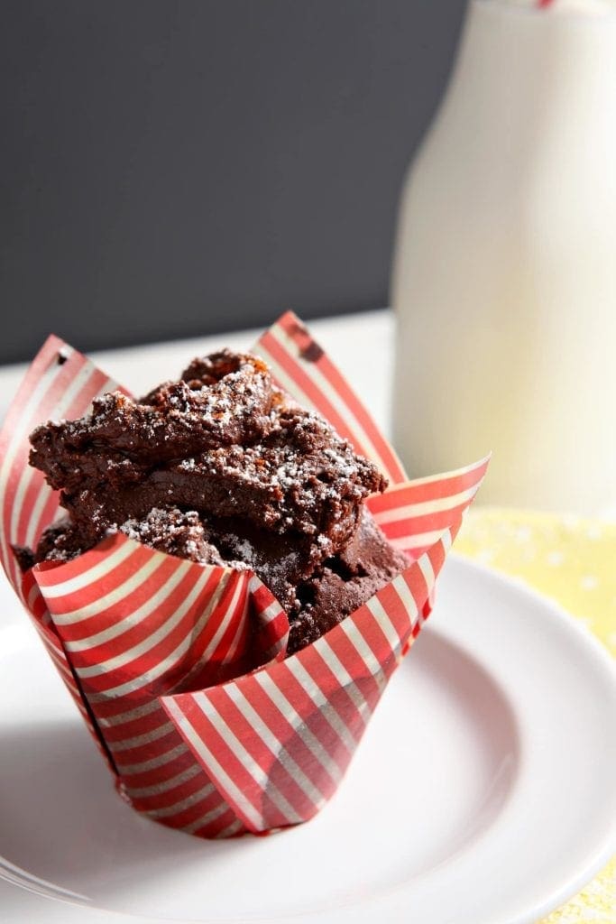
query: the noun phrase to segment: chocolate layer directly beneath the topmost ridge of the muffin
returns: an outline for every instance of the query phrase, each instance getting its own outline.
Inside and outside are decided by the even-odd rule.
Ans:
[[[348,444],[323,430],[314,415],[294,411],[260,443],[212,449],[142,471],[139,479],[130,463],[109,459],[106,478],[100,464],[97,476],[86,456],[79,465],[79,490],[65,491],[63,505],[84,530],[99,534],[165,504],[212,517],[245,517],[277,533],[320,536],[327,543],[322,553],[332,554],[348,541],[361,501],[382,480]]]

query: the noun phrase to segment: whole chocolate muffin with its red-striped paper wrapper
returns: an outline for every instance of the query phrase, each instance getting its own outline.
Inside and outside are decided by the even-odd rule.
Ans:
[[[51,336],[0,432],[8,579],[118,791],[205,838],[331,798],[488,464],[406,481],[295,315],[257,352],[323,417],[249,354],[133,400]]]

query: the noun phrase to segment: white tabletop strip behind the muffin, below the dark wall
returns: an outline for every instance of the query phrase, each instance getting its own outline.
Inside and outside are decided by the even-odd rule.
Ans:
[[[362,398],[380,427],[384,432],[389,432],[393,311],[366,311],[311,321],[309,328]],[[134,395],[145,395],[153,385],[179,375],[193,357],[210,353],[222,346],[248,348],[254,344],[262,330],[262,327],[258,327],[190,340],[99,350],[89,355],[103,371],[125,385]],[[53,328],[50,328],[51,333],[62,336],[62,331]],[[79,349],[79,343],[71,346]],[[1,419],[5,417],[27,365],[19,363],[0,366]]]

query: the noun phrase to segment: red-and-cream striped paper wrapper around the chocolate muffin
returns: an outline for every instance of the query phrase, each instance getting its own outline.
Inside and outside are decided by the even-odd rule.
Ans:
[[[28,465],[32,429],[77,418],[118,387],[50,337],[0,433],[0,554],[120,793],[201,837],[308,821],[340,783],[368,719],[429,613],[429,599],[488,460],[405,480],[343,376],[292,313],[254,347],[284,389],[318,410],[389,489],[368,499],[412,564],[354,614],[285,658],[288,620],[258,577],[196,565],[124,534],[65,564],[19,573],[58,495]],[[373,372],[372,374],[377,374]]]

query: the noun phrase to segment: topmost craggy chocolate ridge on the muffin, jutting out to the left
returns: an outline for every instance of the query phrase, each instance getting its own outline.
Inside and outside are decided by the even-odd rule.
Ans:
[[[53,488],[71,490],[83,477],[106,480],[118,468],[118,480],[139,480],[165,461],[269,432],[281,397],[262,360],[224,350],[200,362],[202,378],[164,383],[140,402],[112,392],[96,398],[87,417],[37,427],[30,465]]]

